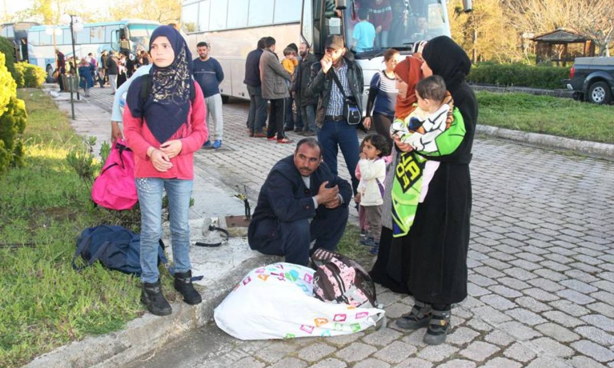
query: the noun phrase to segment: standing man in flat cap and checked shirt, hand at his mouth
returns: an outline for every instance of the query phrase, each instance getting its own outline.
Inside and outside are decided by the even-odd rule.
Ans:
[[[354,62],[352,53],[346,53],[341,36],[328,36],[325,52],[320,63],[311,67],[309,82],[309,93],[319,96],[316,111],[316,126],[319,128],[317,140],[324,147],[324,162],[334,175],[338,173],[337,152],[338,147],[341,148],[356,193],[359,181],[355,172],[360,154],[358,135],[356,125],[349,125],[343,117],[343,95],[354,97],[359,110],[363,111],[362,69]],[[343,93],[333,81],[333,73],[340,80]]]

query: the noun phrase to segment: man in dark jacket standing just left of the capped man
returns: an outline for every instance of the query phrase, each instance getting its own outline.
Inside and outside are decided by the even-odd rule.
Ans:
[[[298,62],[296,77],[291,86],[292,92],[295,93],[294,99],[299,109],[298,114],[305,124],[305,130],[298,134],[314,136],[316,135],[317,100],[316,96],[309,92],[309,78],[311,77],[311,66],[317,64],[317,58],[309,52],[307,42],[301,43],[298,53],[301,55],[301,61]]]

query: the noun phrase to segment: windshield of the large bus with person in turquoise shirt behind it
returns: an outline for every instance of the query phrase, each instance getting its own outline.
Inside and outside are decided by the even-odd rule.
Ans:
[[[409,49],[416,41],[450,35],[443,0],[354,0],[344,10],[344,19],[346,44],[357,55]]]

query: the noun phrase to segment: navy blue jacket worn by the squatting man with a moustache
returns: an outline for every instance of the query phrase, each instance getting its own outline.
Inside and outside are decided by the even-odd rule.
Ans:
[[[260,189],[258,204],[249,224],[247,238],[250,245],[276,237],[279,221],[291,222],[324,214],[327,208],[319,205],[316,209],[312,198],[322,182],[328,181],[328,187],[339,186],[339,194],[343,197],[341,206],[347,207],[350,203],[352,186],[344,179],[333,176],[326,163],[322,162],[311,173],[310,180],[310,188],[307,188],[294,165],[293,155],[273,166]]]

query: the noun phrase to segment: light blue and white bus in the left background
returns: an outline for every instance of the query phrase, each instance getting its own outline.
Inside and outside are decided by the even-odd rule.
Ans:
[[[149,20],[121,20],[118,22],[84,23],[75,32],[77,58],[93,53],[97,60],[103,50],[119,51],[122,35],[130,42],[131,52],[149,49],[149,36],[160,23]],[[45,69],[49,75],[55,70],[55,49],[67,58],[72,57],[72,38],[69,26],[32,26],[28,29],[28,62]]]

